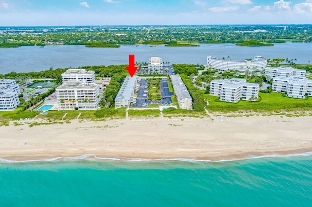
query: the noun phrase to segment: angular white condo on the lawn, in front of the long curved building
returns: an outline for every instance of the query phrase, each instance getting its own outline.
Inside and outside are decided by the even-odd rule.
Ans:
[[[246,83],[245,79],[232,78],[230,80],[212,80],[210,82],[210,95],[219,96],[220,101],[238,102],[243,100],[256,101],[259,94],[259,84]]]

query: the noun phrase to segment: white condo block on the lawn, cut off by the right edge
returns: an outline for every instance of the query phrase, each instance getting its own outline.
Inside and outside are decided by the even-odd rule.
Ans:
[[[305,94],[312,96],[312,80],[304,76],[274,77],[272,91],[285,92],[289,97],[304,99]]]

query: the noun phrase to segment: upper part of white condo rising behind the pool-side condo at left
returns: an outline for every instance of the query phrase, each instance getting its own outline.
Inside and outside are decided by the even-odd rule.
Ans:
[[[68,69],[62,73],[62,83],[66,81],[86,81],[94,83],[96,81],[95,72],[86,69]]]

